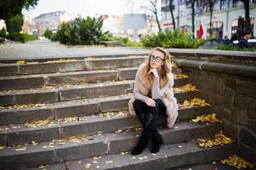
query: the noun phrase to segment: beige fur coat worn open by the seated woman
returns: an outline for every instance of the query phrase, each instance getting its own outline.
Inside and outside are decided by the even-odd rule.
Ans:
[[[147,96],[151,91],[151,83],[145,79],[145,77],[142,74],[142,70],[145,67],[145,63],[139,65],[139,70],[137,71],[137,74],[139,74],[139,92],[140,94],[143,94]],[[162,95],[160,99],[162,99],[163,104],[166,106],[166,114],[167,114],[167,126],[169,128],[174,127],[174,122],[176,121],[176,118],[178,116],[178,105],[177,105],[177,99],[174,98],[174,74],[170,74],[170,80],[172,81],[170,87],[167,89],[167,91]],[[129,100],[128,102],[128,109],[130,115],[136,115],[134,111],[134,100]]]

